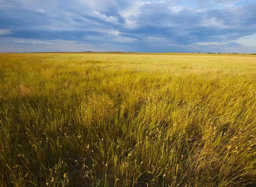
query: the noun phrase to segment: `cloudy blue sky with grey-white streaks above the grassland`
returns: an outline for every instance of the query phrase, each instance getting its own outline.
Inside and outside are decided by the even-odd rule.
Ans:
[[[256,0],[0,0],[0,52],[256,53]]]

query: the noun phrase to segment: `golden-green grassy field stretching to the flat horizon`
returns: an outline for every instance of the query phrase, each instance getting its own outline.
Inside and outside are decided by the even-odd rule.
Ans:
[[[256,185],[255,55],[0,61],[0,186]]]

